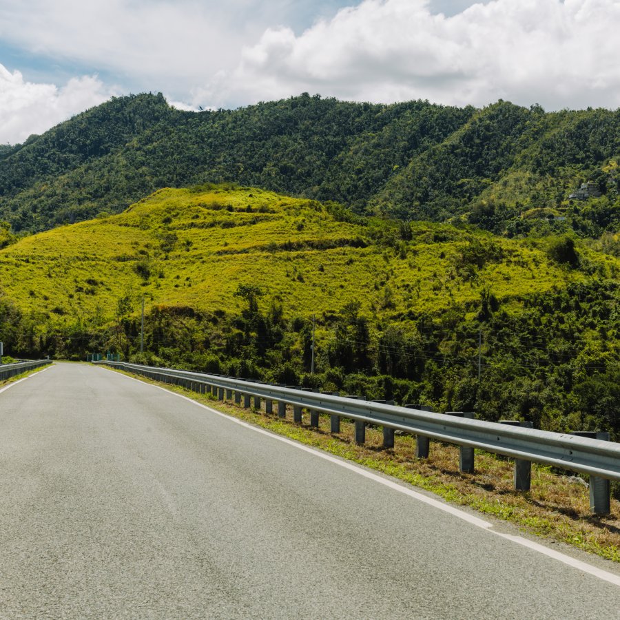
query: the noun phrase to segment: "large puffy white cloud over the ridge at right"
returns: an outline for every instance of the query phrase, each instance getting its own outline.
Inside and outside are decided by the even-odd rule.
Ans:
[[[299,35],[267,29],[200,95],[616,108],[619,31],[616,0],[495,0],[452,17],[423,0],[365,0]]]

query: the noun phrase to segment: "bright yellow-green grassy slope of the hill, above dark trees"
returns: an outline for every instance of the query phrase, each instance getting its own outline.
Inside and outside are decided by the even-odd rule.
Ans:
[[[373,230],[391,226],[397,238],[394,225],[336,221],[320,203],[254,188],[163,189],[123,214],[1,250],[0,287],[52,324],[112,320],[127,293],[145,294],[147,311],[158,304],[237,311],[240,284],[260,287],[262,304],[280,298],[289,316],[358,301],[364,313],[400,320],[409,311],[473,307],[482,287],[511,311],[530,293],[584,278],[549,260],[544,247],[447,225],[414,223],[413,240],[400,251],[373,241]],[[474,238],[497,245],[504,258],[464,273],[462,254]],[[610,273],[619,268],[616,258],[589,252]]]

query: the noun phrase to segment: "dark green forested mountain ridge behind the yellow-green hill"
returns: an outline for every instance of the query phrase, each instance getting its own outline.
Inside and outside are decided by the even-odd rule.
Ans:
[[[619,162],[620,111],[302,94],[194,113],[141,94],[3,147],[0,218],[14,231],[40,231],[118,213],[161,187],[232,181],[360,214],[599,237],[620,221]],[[603,195],[569,203],[588,180]]]

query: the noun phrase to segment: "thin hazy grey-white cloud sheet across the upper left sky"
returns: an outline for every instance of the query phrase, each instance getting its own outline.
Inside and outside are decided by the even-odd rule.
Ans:
[[[0,0],[0,41],[179,99],[236,67],[243,45],[267,26],[310,7],[329,14],[343,1]]]

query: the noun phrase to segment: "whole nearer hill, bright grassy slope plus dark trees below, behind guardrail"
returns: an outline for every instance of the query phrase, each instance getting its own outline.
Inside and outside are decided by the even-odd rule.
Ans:
[[[164,189],[1,249],[0,340],[19,356],[111,351],[618,437],[614,244],[361,218],[248,187]]]

